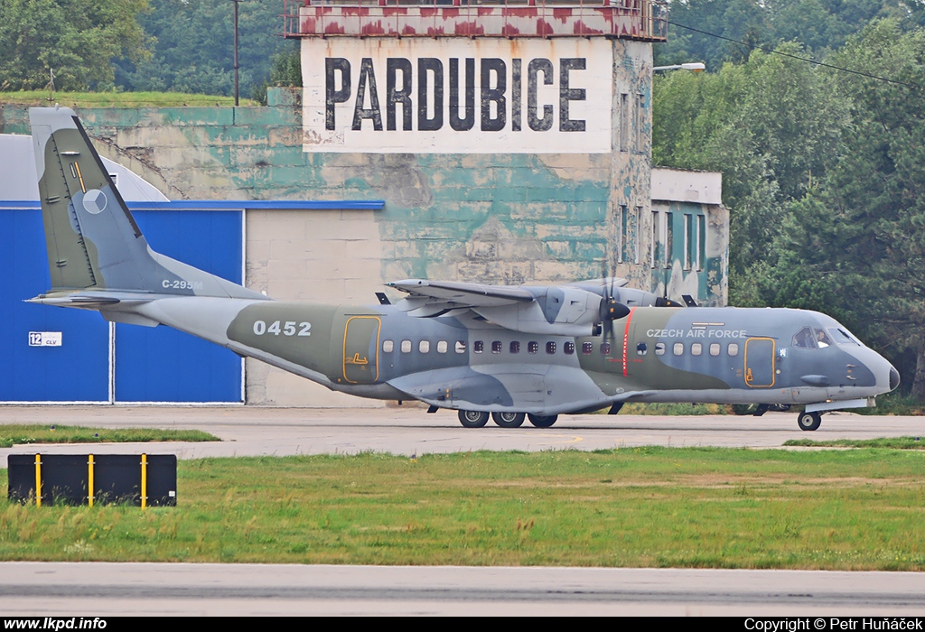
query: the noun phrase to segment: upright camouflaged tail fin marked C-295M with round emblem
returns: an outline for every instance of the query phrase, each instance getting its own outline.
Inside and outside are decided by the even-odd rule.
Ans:
[[[150,249],[73,110],[30,108],[29,117],[50,295],[265,298]]]

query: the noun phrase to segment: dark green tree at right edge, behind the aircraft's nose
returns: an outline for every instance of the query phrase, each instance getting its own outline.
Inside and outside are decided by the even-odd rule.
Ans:
[[[925,398],[925,30],[875,22],[833,63],[902,83],[839,75],[850,133],[838,163],[787,215],[772,299],[836,310],[889,356],[913,353],[911,395]]]

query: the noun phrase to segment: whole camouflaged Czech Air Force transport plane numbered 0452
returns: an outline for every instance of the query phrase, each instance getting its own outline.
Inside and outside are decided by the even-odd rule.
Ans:
[[[241,356],[378,399],[452,408],[467,428],[489,414],[548,428],[561,413],[624,402],[874,405],[899,374],[844,326],[814,311],[682,308],[622,280],[567,286],[388,284],[407,298],[375,307],[272,300],[160,255],[77,115],[30,110],[51,289],[32,302],[165,324]]]

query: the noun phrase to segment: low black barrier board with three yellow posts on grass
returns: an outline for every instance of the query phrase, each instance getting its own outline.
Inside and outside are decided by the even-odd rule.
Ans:
[[[176,506],[176,455],[10,455],[7,497],[20,503]]]

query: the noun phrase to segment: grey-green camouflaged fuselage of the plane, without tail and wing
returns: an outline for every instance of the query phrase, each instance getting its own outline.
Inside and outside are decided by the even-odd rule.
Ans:
[[[889,363],[866,346],[794,345],[807,327],[844,329],[817,312],[644,307],[611,326],[606,336],[535,335],[394,306],[260,301],[237,310],[216,342],[345,393],[470,410],[789,404],[890,390]]]

